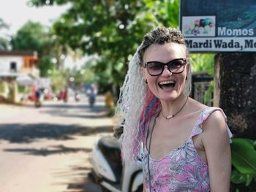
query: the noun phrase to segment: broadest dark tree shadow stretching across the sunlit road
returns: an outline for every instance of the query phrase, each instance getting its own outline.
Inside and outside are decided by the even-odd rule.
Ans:
[[[13,143],[29,143],[34,139],[73,139],[72,136],[89,136],[96,133],[113,132],[113,126],[85,127],[59,124],[1,124],[0,139]]]

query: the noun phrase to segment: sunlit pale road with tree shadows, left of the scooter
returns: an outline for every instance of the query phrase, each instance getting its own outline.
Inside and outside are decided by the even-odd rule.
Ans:
[[[75,102],[0,104],[0,191],[101,191],[89,180],[89,155],[98,133],[112,133],[104,98],[94,108]]]

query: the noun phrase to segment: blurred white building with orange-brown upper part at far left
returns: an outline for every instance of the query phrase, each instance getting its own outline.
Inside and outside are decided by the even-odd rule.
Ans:
[[[0,103],[20,99],[18,85],[34,85],[39,77],[37,52],[0,50]]]

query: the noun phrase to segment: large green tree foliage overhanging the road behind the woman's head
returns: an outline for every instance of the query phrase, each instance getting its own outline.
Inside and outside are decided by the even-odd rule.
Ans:
[[[53,25],[61,45],[100,59],[94,72],[100,83],[121,86],[127,63],[143,35],[156,26],[178,26],[178,1],[31,0],[35,6],[70,4]]]

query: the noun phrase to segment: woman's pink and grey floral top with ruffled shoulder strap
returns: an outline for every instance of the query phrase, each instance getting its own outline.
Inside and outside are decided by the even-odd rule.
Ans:
[[[208,107],[200,112],[189,139],[180,147],[177,147],[176,150],[171,151],[159,160],[149,157],[151,192],[210,191],[208,164],[197,153],[192,137],[203,132],[203,121],[215,110],[220,110],[227,121],[226,115],[220,108]],[[148,125],[145,132],[148,132]],[[231,138],[232,134],[228,127],[227,132]],[[143,144],[146,143],[146,134],[144,136]],[[146,145],[143,145],[143,151],[143,174],[146,182],[146,191],[149,191],[148,151]]]

